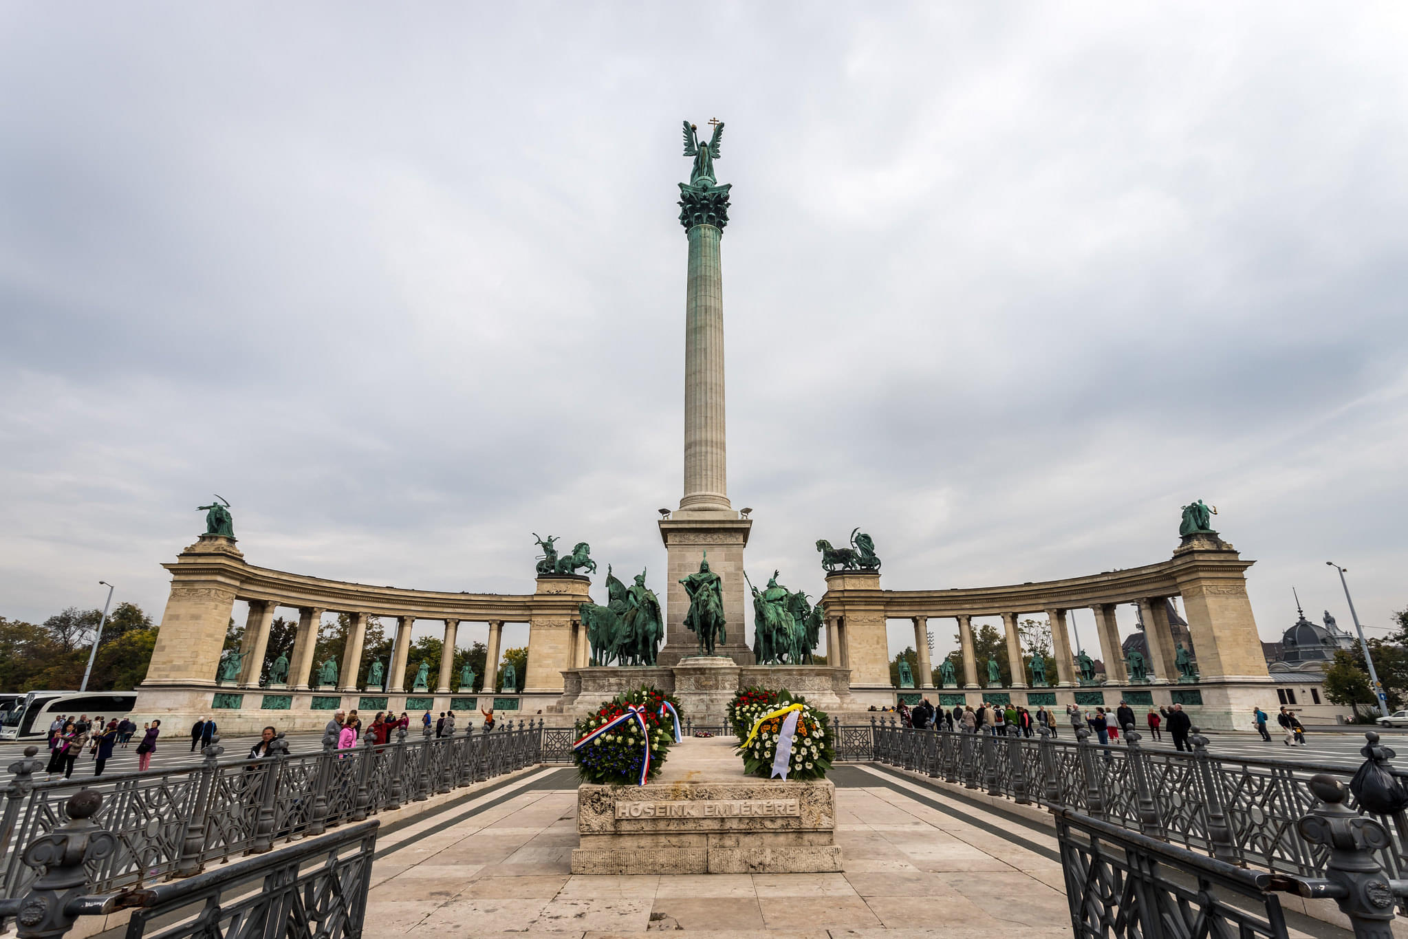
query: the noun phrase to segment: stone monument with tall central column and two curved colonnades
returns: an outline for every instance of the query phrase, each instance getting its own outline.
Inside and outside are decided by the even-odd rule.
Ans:
[[[677,201],[687,242],[684,473],[679,507],[662,510],[658,521],[667,555],[663,610],[646,572],[627,584],[610,566],[607,604],[593,603],[590,576],[598,572],[590,543],[558,535],[534,534],[542,550],[535,587],[521,594],[377,587],[258,567],[237,548],[230,503],[217,496],[200,505],[204,534],[165,565],[170,594],[134,719],[182,724],[214,712],[224,729],[251,732],[272,717],[284,729],[317,729],[339,708],[493,708],[570,722],[642,683],[673,693],[700,722],[722,719],[725,704],[749,686],[786,687],[849,721],[865,719],[867,707],[924,695],[942,707],[984,700],[1032,708],[1181,704],[1201,726],[1217,729],[1243,725],[1252,705],[1276,705],[1246,594],[1245,572],[1253,562],[1212,529],[1217,508],[1201,500],[1181,507],[1171,557],[1098,574],[894,590],[881,586],[874,539],[853,528],[849,538],[843,531],[817,532],[835,542],[814,542],[819,557],[812,557],[826,580],[815,605],[780,584],[780,572],[763,587],[749,583],[743,549],[752,521],[749,510],[735,510],[728,498],[724,408],[721,244],[731,186],[715,172],[724,124],[710,124],[705,141],[684,122],[684,156],[691,159]],[[1183,601],[1186,622],[1174,600]],[[235,603],[246,604],[248,615],[239,648],[227,652]],[[1138,608],[1142,628],[1140,649],[1128,653],[1115,619],[1121,605]],[[279,610],[297,611],[297,631],[275,648]],[[1100,656],[1098,670],[1095,657],[1070,641],[1067,617],[1080,610],[1095,621],[1091,652]],[[1049,660],[1022,648],[1018,622],[1028,614],[1050,624]],[[345,641],[320,648],[324,617],[332,615],[341,615]],[[984,663],[974,655],[974,618],[1001,619],[1005,638],[1000,656]],[[394,636],[389,653],[365,649],[373,619]],[[917,655],[914,667],[907,663],[893,683],[888,626],[897,619],[912,625]],[[484,674],[463,664],[456,670],[452,655],[441,656],[438,669],[429,660],[411,662],[411,631],[427,621],[446,650],[465,650],[483,631]],[[515,622],[527,624],[524,669],[503,657],[504,625]],[[929,660],[931,626],[956,626],[959,660]],[[815,655],[822,634],[825,664]]]

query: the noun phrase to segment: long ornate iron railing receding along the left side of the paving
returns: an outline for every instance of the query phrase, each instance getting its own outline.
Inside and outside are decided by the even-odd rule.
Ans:
[[[68,821],[66,802],[80,790],[101,793],[93,822],[110,832],[113,850],[89,863],[90,890],[101,893],[170,876],[193,876],[207,863],[263,853],[275,842],[324,833],[432,794],[449,793],[542,762],[543,722],[508,721],[491,732],[377,746],[363,736],[339,750],[325,735],[322,750],[290,755],[282,735],[262,759],[221,760],[218,739],[190,766],[113,773],[96,780],[35,781],[44,762],[27,748],[10,764],[0,814],[0,897],[17,897],[34,878],[17,846]],[[570,733],[570,731],[569,731]],[[569,757],[570,759],[570,757]]]

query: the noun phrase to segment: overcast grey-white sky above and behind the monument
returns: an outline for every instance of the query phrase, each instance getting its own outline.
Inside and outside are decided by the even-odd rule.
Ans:
[[[894,588],[1131,567],[1201,497],[1263,636],[1293,586],[1349,625],[1326,559],[1383,635],[1405,45],[1394,4],[8,4],[0,615],[159,615],[211,493],[260,566],[527,593],[536,531],[663,595],[717,117],[759,577],[819,594],[857,525]]]

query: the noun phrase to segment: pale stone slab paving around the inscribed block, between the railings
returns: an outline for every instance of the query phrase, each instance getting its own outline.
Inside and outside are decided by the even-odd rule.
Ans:
[[[576,773],[545,769],[377,846],[366,935],[1002,936],[1070,935],[1049,828],[995,815],[881,767],[836,783],[845,873],[573,876]],[[1342,936],[1291,915],[1293,936]]]

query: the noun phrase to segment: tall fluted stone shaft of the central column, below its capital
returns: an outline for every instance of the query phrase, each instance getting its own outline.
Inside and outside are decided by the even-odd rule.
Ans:
[[[680,508],[728,510],[724,443],[724,272],[714,225],[689,231],[684,300],[684,498]]]

